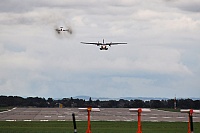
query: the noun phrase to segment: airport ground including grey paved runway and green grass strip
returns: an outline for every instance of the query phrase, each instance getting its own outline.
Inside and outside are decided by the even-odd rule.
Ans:
[[[87,129],[87,112],[78,108],[13,108],[0,113],[0,133],[73,133],[72,113],[76,114],[78,133]],[[200,114],[194,114],[194,131],[200,132]],[[152,109],[142,113],[143,133],[187,132],[185,113]],[[93,133],[130,133],[137,131],[137,113],[128,108],[101,108],[91,113]]]

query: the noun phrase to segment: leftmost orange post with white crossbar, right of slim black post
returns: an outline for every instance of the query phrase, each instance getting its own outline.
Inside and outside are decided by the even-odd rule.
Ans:
[[[79,108],[80,111],[87,111],[88,112],[88,128],[86,130],[86,133],[92,133],[91,131],[91,124],[90,124],[90,112],[100,112],[99,108],[92,108],[92,107],[88,107],[88,108]]]

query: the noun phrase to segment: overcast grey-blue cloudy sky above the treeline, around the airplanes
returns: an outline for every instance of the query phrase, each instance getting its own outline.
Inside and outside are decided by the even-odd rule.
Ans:
[[[200,98],[199,0],[1,0],[0,95]],[[73,34],[56,35],[55,27]],[[80,42],[127,42],[100,51]]]

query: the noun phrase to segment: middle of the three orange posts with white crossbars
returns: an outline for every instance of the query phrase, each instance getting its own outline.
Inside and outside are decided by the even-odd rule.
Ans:
[[[142,133],[142,124],[141,124],[141,114],[142,112],[150,112],[150,109],[145,109],[145,108],[132,108],[129,109],[130,112],[138,112],[138,129],[136,133]]]

